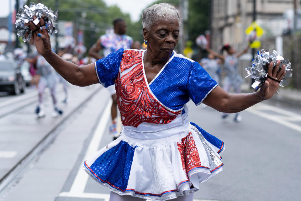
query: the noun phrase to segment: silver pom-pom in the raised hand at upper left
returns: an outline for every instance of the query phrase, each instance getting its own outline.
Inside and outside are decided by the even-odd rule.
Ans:
[[[37,16],[37,19],[33,19],[33,17]],[[24,5],[23,8],[19,8],[19,12],[16,15],[16,30],[18,37],[22,37],[24,42],[30,42],[32,31],[30,30],[29,26],[25,26],[25,23],[29,23],[32,21],[35,25],[39,24],[40,18],[42,18],[45,24],[40,27],[40,29],[47,29],[48,35],[51,36],[52,34],[57,33],[57,29],[54,27],[54,21],[57,19],[57,12],[53,12],[48,9],[42,3],[30,3],[30,6]],[[45,15],[45,16],[44,16]],[[28,36],[26,37],[26,33]]]

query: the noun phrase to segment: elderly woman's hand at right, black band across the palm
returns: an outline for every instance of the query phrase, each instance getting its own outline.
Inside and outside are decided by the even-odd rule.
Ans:
[[[267,77],[266,81],[264,82],[264,85],[257,92],[258,96],[262,100],[269,99],[274,95],[274,93],[277,91],[277,89],[279,87],[279,82],[277,82],[277,80],[281,81],[286,73],[285,65],[283,65],[281,70],[278,71],[278,69],[280,67],[280,60],[277,61],[276,66],[273,67],[273,65],[274,65],[273,62],[271,62],[269,65],[268,71],[267,71],[268,77]],[[269,77],[272,77],[272,79]]]

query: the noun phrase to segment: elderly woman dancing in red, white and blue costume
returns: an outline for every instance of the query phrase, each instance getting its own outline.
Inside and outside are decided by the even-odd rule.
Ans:
[[[83,166],[111,190],[110,200],[193,200],[199,183],[222,170],[224,143],[189,122],[189,99],[236,113],[271,98],[279,83],[267,79],[257,92],[227,93],[198,62],[174,51],[180,24],[174,6],[154,4],[142,21],[146,50],[119,49],[82,67],[51,51],[47,31],[38,29],[33,37],[39,53],[71,84],[115,84],[121,135]],[[33,23],[30,28],[36,30]],[[271,63],[268,74],[282,80],[285,66],[277,71],[279,63]]]

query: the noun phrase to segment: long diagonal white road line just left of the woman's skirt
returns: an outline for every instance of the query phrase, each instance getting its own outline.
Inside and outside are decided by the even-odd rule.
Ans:
[[[103,114],[102,114],[100,120],[99,120],[99,123],[92,136],[92,139],[91,139],[88,149],[85,153],[85,156],[83,157],[83,160],[86,160],[87,158],[89,158],[95,152],[98,151],[98,146],[99,146],[100,140],[103,137],[103,132],[108,124],[108,119],[111,114],[111,105],[112,105],[112,100],[110,99],[103,111]],[[84,172],[82,170],[82,166],[80,166],[77,171],[77,175],[70,188],[70,192],[67,192],[67,193],[69,193],[70,195],[82,194],[86,188],[88,178],[89,178],[88,174],[86,172]],[[66,192],[63,192],[63,193],[66,193]],[[61,193],[59,196],[61,196]]]

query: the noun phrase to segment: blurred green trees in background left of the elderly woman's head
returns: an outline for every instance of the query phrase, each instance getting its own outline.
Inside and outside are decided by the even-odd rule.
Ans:
[[[55,0],[40,0],[40,3],[55,10]],[[87,48],[105,34],[106,29],[113,29],[113,20],[116,18],[123,18],[127,22],[129,36],[134,40],[143,40],[142,25],[132,22],[129,14],[123,13],[115,5],[108,7],[102,0],[58,0],[58,3],[58,20],[72,21],[76,30],[83,30]]]

